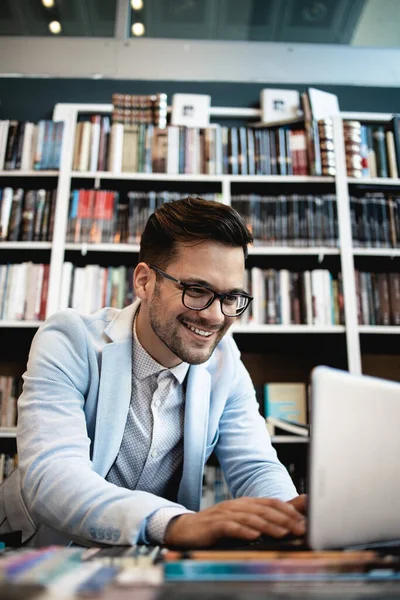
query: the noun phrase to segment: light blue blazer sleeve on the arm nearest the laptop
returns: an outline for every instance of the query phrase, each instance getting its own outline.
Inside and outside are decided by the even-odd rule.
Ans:
[[[234,375],[229,382],[215,447],[228,487],[235,498],[291,500],[298,495],[296,488],[271,444],[253,383],[233,340],[230,350]]]

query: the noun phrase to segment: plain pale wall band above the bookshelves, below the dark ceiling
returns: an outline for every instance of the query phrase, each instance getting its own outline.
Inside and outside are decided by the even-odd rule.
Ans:
[[[400,49],[4,36],[0,74],[398,87]]]

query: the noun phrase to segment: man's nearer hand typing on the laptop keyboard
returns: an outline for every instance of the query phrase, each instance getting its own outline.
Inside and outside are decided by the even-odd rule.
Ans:
[[[274,498],[237,498],[195,514],[176,517],[167,526],[164,542],[191,548],[211,546],[221,538],[255,540],[261,534],[281,538],[303,535],[303,514],[290,502]]]

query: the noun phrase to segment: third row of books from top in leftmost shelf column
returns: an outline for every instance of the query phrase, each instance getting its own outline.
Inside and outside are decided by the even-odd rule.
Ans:
[[[49,265],[0,265],[0,320],[42,321],[46,317]]]

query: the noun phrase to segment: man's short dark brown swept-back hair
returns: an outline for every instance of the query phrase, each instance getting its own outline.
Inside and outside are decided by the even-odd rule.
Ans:
[[[253,242],[253,237],[231,206],[194,196],[166,202],[146,223],[139,262],[163,269],[177,256],[178,244],[206,240],[241,247],[247,258],[247,246]]]

